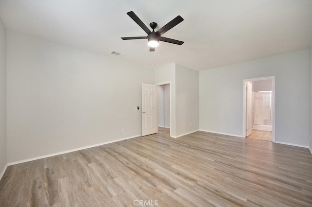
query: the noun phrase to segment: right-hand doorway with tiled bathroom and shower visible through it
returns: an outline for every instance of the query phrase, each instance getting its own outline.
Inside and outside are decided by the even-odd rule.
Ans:
[[[275,142],[275,77],[243,80],[243,135]]]

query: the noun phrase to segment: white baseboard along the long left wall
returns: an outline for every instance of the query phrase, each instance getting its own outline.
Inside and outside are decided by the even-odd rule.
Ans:
[[[129,139],[129,138],[136,138],[136,137],[141,137],[141,135],[136,135],[136,136],[127,137],[127,138],[120,138],[120,139],[116,139],[116,140],[112,140],[112,141],[106,141],[106,142],[93,144],[93,145],[89,145],[89,146],[85,146],[85,147],[79,147],[79,148],[72,149],[72,150],[62,151],[62,152],[59,152],[59,153],[53,153],[53,154],[49,154],[49,155],[42,155],[42,156],[37,156],[37,157],[29,158],[29,159],[23,159],[23,160],[20,160],[20,161],[10,162],[7,165],[8,166],[16,165],[16,164],[20,164],[20,163],[24,163],[24,162],[29,162],[29,161],[33,161],[33,160],[37,160],[37,159],[50,157],[50,156],[56,156],[56,155],[62,155],[62,154],[66,154],[66,153],[71,153],[71,152],[75,152],[75,151],[78,151],[78,150],[84,150],[84,149],[97,147],[97,146],[104,145],[104,144],[109,144],[109,143],[113,143],[113,142],[117,142],[117,141],[122,141],[122,140]]]

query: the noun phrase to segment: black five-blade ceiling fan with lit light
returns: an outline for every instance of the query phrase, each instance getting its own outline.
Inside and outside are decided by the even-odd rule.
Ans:
[[[177,16],[176,18],[171,20],[169,23],[167,23],[165,26],[160,28],[157,32],[154,31],[157,26],[157,23],[156,22],[150,23],[150,27],[153,29],[153,32],[151,32],[150,29],[148,29],[148,27],[141,21],[139,17],[137,17],[137,15],[133,11],[128,12],[127,15],[131,17],[138,24],[138,26],[140,26],[144,30],[144,32],[146,32],[147,36],[121,37],[121,39],[123,40],[148,39],[147,44],[148,46],[150,46],[150,52],[155,51],[155,47],[159,45],[159,41],[169,42],[169,43],[173,43],[176,45],[182,45],[184,43],[176,39],[170,39],[170,38],[161,36],[164,33],[166,33],[168,30],[170,30],[171,28],[175,27],[177,24],[182,22],[184,19],[181,16]]]

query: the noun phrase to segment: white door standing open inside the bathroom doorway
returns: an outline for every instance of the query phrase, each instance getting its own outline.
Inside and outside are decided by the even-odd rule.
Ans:
[[[252,134],[253,129],[253,90],[252,84],[246,82],[246,137]]]

